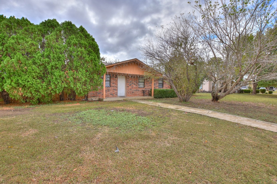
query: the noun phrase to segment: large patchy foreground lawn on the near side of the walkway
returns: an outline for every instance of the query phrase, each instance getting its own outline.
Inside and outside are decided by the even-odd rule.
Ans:
[[[0,113],[0,183],[277,181],[277,134],[263,129],[130,101]]]

